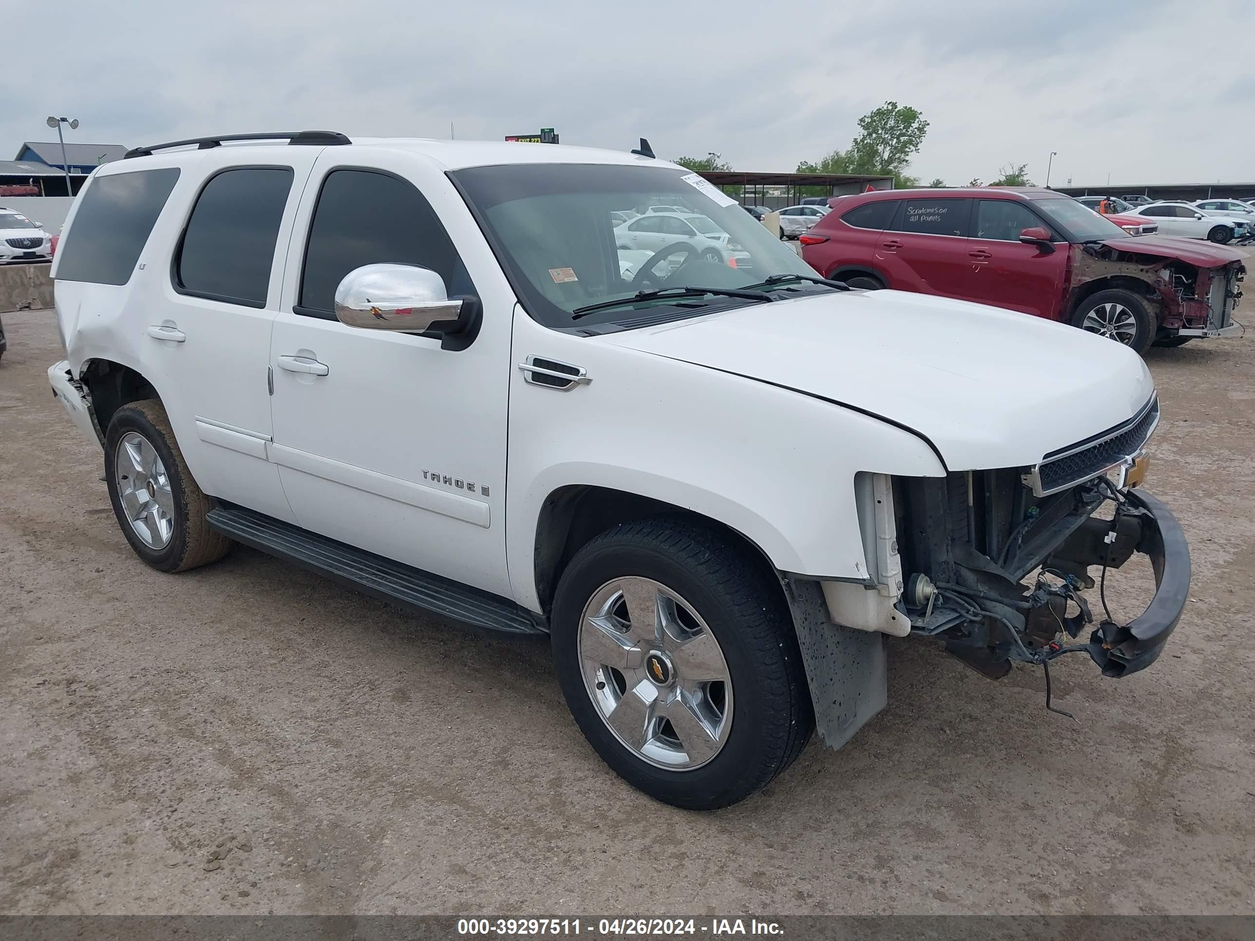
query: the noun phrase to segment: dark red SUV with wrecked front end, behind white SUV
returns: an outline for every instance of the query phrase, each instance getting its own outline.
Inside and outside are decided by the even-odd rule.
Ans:
[[[1242,253],[1133,237],[1050,189],[890,189],[842,196],[802,257],[851,287],[919,291],[1072,324],[1145,353],[1241,330]]]

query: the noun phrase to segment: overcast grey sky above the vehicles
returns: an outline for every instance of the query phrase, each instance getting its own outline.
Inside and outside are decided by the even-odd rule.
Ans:
[[[15,14],[0,0],[0,20]],[[911,172],[986,182],[1255,179],[1250,0],[56,0],[11,30],[0,158],[55,139],[148,144],[242,130],[717,151],[791,171],[885,100],[931,122]],[[29,68],[20,68],[25,59]]]

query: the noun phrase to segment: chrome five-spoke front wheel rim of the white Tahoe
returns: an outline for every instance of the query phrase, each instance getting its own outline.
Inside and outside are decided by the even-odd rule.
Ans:
[[[732,731],[732,678],[714,634],[650,578],[602,585],[580,616],[580,666],[597,714],[636,757],[669,770],[707,764]]]

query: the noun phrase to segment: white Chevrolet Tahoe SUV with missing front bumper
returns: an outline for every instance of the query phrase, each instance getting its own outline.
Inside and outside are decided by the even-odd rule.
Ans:
[[[658,203],[752,263],[683,240],[621,263],[615,213]],[[547,635],[592,748],[680,807],[762,788],[814,728],[848,740],[886,635],[991,678],[1071,652],[1121,676],[1185,605],[1181,528],[1136,488],[1135,353],[825,281],[645,142],[141,148],[92,174],[53,276],[53,391],[144,562],[241,542]],[[1145,614],[1092,616],[1135,552]]]

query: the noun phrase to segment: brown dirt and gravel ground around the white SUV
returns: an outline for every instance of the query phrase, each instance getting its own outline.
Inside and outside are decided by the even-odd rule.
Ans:
[[[1073,723],[1040,670],[894,640],[845,749],[694,814],[602,765],[543,644],[251,550],[147,568],[49,393],[53,314],[4,321],[3,913],[1255,912],[1255,334],[1150,354],[1195,573],[1155,666],[1064,657]]]

